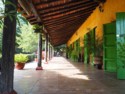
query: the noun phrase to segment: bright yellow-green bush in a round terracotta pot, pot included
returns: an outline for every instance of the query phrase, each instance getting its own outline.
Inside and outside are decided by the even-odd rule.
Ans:
[[[23,69],[25,66],[25,63],[28,61],[28,56],[26,54],[16,54],[14,57],[15,61],[15,68],[16,69]]]

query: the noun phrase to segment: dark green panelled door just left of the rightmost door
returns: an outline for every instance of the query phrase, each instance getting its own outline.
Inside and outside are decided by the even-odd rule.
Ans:
[[[116,72],[116,23],[104,24],[103,36],[103,62],[104,70],[108,72]]]

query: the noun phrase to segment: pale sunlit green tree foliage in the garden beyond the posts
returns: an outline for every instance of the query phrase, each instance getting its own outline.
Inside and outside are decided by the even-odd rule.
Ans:
[[[17,36],[17,43],[23,52],[34,52],[37,50],[38,34],[34,34],[31,25],[24,24],[21,28],[20,36]]]

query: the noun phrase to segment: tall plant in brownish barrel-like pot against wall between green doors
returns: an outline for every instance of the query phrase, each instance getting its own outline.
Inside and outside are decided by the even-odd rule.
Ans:
[[[96,66],[98,69],[102,69],[103,44],[101,39],[96,39],[93,50],[94,50],[94,66]]]

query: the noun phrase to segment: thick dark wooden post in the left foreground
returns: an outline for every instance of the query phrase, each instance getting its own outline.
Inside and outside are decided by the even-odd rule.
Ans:
[[[6,1],[12,2],[15,6],[17,5],[17,0]],[[9,16],[4,19],[0,94],[16,94],[13,89],[16,8],[11,4],[5,5],[5,13],[9,13],[14,10],[15,12],[12,14],[13,16],[11,16],[12,19],[10,19]]]

